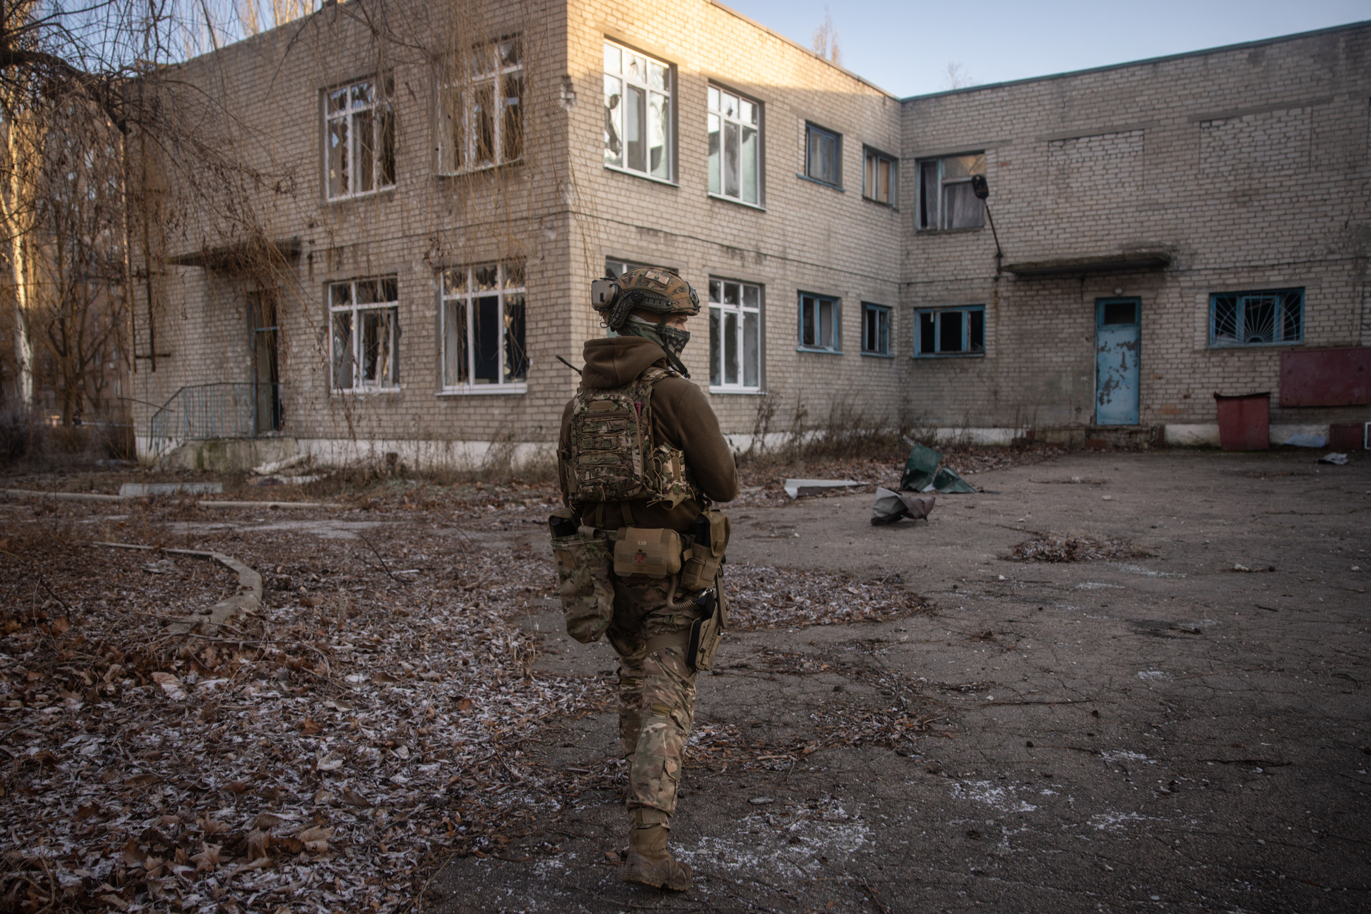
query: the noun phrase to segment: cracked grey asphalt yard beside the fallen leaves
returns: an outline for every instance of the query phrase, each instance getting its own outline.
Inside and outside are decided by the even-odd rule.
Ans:
[[[735,562],[898,574],[935,610],[733,633],[696,726],[792,747],[902,706],[913,750],[777,751],[686,770],[684,895],[622,885],[616,791],[509,859],[450,861],[443,911],[1357,911],[1371,909],[1371,459],[1105,452],[982,473],[930,522],[871,495],[732,510]],[[1009,560],[1034,532],[1120,537],[1119,562]],[[546,541],[539,540],[539,548]],[[1250,570],[1238,570],[1237,566]],[[1274,569],[1274,570],[1268,570]],[[842,595],[835,595],[842,599]],[[548,610],[547,670],[606,671]],[[899,745],[910,745],[899,743]],[[617,752],[609,714],[531,754]]]

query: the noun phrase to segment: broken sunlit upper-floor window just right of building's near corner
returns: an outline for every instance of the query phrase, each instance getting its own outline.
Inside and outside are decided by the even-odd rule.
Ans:
[[[672,66],[605,42],[605,164],[670,181]]]

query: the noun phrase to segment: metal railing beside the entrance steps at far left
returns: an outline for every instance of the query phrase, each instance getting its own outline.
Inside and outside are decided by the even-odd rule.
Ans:
[[[280,432],[281,386],[222,381],[181,388],[148,421],[152,456],[160,456],[180,441],[255,439]]]

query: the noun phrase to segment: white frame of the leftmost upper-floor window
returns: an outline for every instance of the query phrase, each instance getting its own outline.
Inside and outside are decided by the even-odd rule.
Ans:
[[[324,196],[328,200],[352,200],[395,186],[395,77],[383,74],[355,79],[324,90]],[[343,143],[335,141],[341,130]],[[366,169],[361,167],[363,133],[370,133],[372,186],[358,189]],[[347,186],[339,189],[335,152],[341,149],[341,169]],[[389,153],[389,174],[384,163]],[[388,178],[388,181],[387,181]],[[383,184],[384,181],[384,184]]]

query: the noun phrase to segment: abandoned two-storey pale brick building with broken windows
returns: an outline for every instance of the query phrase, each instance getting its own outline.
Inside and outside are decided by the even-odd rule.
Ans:
[[[1276,396],[1371,321],[1367,23],[899,100],[709,0],[377,0],[182,70],[256,256],[169,233],[145,454],[528,454],[625,264],[707,297],[686,362],[739,443],[835,404],[986,441],[1212,441],[1215,391],[1272,391],[1279,440],[1371,418]]]

